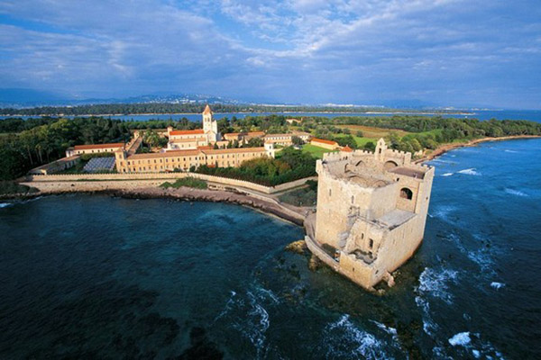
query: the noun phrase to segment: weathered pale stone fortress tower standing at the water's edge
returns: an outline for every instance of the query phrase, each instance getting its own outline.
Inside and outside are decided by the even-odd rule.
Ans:
[[[411,154],[329,153],[317,161],[316,246],[335,250],[340,273],[371,289],[404,264],[425,232],[434,167],[411,163]],[[333,266],[335,267],[335,266]]]

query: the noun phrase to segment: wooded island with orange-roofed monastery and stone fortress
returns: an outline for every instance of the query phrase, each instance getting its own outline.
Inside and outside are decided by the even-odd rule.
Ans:
[[[208,104],[201,117],[200,124],[29,120],[23,125],[31,129],[4,141],[20,141],[17,150],[43,164],[19,176],[7,196],[108,192],[250,206],[304,226],[305,246],[315,259],[374,291],[381,281],[394,284],[393,273],[423,239],[435,174],[423,165],[426,159],[450,148],[541,133],[541,125],[530,121],[418,116],[216,121]],[[97,137],[91,132],[96,124],[106,130],[98,127]],[[50,162],[53,147],[25,142],[69,130],[78,139],[90,134],[91,143],[69,140],[65,156]]]

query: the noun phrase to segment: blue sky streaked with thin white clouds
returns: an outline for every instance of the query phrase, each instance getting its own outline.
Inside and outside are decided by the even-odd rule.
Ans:
[[[0,88],[541,109],[541,3],[2,0]]]

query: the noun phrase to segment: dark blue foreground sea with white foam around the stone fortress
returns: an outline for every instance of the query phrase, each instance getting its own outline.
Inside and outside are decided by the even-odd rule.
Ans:
[[[424,241],[381,293],[233,204],[2,202],[0,358],[541,358],[541,139],[430,165]]]

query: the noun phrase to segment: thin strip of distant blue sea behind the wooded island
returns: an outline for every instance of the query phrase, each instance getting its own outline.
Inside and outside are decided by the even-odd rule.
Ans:
[[[285,115],[292,118],[301,118],[307,116],[319,116],[326,118],[335,118],[338,116],[395,116],[395,115],[422,115],[422,116],[443,116],[445,118],[469,118],[485,120],[529,120],[541,122],[540,110],[472,110],[460,113],[434,113],[434,112],[227,112],[215,113],[216,120],[233,117],[244,119],[246,116],[261,116],[261,115]],[[149,121],[149,120],[180,120],[187,118],[189,121],[201,121],[199,113],[162,113],[162,114],[124,114],[124,115],[102,115],[106,118],[123,120],[123,121]],[[0,116],[0,120],[9,116]],[[33,117],[33,116],[31,116]],[[73,118],[74,116],[66,116]],[[28,117],[23,117],[28,118]]]

